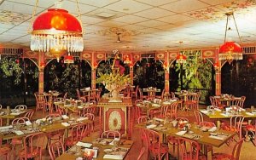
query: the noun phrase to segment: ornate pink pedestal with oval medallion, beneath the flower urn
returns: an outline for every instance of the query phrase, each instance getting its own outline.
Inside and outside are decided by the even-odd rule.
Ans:
[[[131,98],[121,99],[122,102],[109,102],[102,99],[100,108],[100,133],[105,130],[117,130],[122,136],[131,137]]]

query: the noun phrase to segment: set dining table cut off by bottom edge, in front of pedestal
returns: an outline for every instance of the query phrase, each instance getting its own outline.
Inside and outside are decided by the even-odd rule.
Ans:
[[[116,140],[116,142],[114,142]],[[124,159],[131,149],[133,140],[84,137],[75,146],[56,157],[56,160],[84,159],[86,151],[93,152],[93,159]],[[79,158],[80,157],[80,158]]]

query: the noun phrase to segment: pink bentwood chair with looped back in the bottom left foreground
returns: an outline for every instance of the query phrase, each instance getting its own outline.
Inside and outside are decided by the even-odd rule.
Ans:
[[[19,152],[20,159],[27,160],[28,158],[38,157],[42,159],[42,151],[44,146],[44,134],[38,132],[26,135],[23,139],[23,147]]]

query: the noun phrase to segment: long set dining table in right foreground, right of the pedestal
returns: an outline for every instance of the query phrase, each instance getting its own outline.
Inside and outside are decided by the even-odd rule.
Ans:
[[[207,151],[207,146],[220,147],[224,145],[228,140],[236,135],[236,132],[227,131],[219,128],[202,128],[195,123],[188,123],[187,130],[179,128],[177,123],[173,124],[174,120],[166,122],[161,118],[154,118],[147,123],[139,123],[136,125],[139,129],[152,129],[157,131],[161,136],[160,140],[163,143],[167,143],[166,137],[168,135],[174,137],[184,137],[190,140],[195,140],[203,146],[203,151]],[[206,152],[204,152],[206,154]]]

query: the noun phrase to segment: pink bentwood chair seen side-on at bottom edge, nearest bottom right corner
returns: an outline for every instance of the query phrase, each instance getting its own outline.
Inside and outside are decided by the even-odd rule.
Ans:
[[[231,154],[227,153],[214,153],[212,155],[212,159],[230,159],[230,160],[239,160],[240,152],[241,152],[241,146],[244,139],[238,140],[232,148]]]

